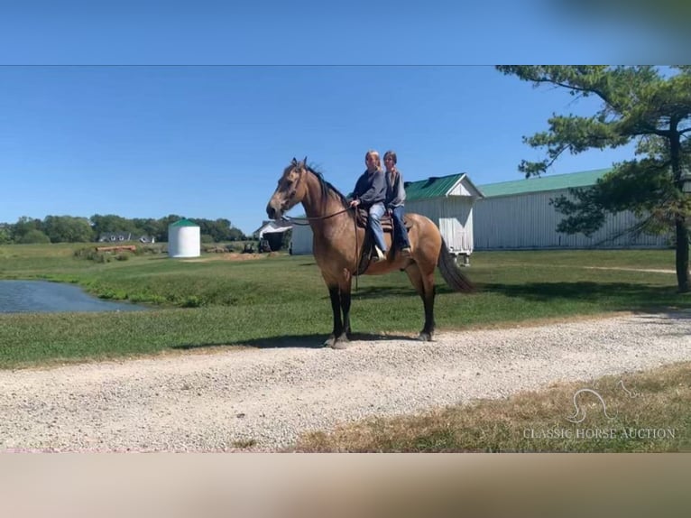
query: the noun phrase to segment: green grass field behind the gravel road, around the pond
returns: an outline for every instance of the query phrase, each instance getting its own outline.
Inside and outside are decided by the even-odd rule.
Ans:
[[[73,282],[95,296],[152,310],[0,315],[0,368],[152,355],[198,347],[318,347],[331,309],[311,255],[229,261],[134,254],[127,261],[78,258],[84,245],[0,246],[0,279]],[[464,270],[479,287],[450,291],[437,275],[438,330],[562,319],[613,311],[691,308],[676,276],[585,266],[670,269],[674,252],[476,253]],[[364,276],[354,291],[355,334],[415,334],[422,304],[405,273]]]

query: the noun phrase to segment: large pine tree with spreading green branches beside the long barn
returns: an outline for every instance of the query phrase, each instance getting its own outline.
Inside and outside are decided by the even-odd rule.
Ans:
[[[557,116],[549,130],[523,141],[545,148],[541,162],[522,161],[526,177],[546,172],[561,153],[582,153],[635,142],[639,158],[613,164],[613,170],[573,199],[554,200],[567,217],[558,230],[592,234],[607,213],[631,210],[643,218],[632,230],[674,229],[677,287],[691,289],[688,271],[688,223],[691,216],[691,66],[500,66],[500,71],[535,87],[565,88],[574,97],[597,97],[593,116]]]

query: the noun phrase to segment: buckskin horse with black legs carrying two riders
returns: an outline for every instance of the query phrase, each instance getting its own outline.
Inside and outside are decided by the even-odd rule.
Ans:
[[[307,157],[301,162],[293,158],[283,170],[266,206],[266,214],[270,219],[281,219],[298,203],[302,203],[312,227],[314,258],[327,284],[334,313],[334,327],[324,345],[345,348],[351,336],[351,286],[353,276],[358,273],[358,251],[364,248],[365,229],[356,226],[355,210],[349,208],[348,200],[321,173],[307,165]],[[370,262],[364,273],[379,275],[403,270],[408,274],[425,310],[425,324],[418,338],[429,341],[435,331],[435,267],[438,266],[447,285],[455,291],[471,292],[474,285],[460,272],[438,227],[428,217],[408,213],[406,220],[406,227],[410,225],[410,256],[404,257],[400,251],[393,250],[392,236],[387,233],[386,260]]]

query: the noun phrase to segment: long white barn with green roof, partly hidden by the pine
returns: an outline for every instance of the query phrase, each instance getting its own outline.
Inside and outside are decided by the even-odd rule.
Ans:
[[[530,250],[667,247],[668,236],[636,236],[627,232],[639,221],[631,212],[608,215],[603,227],[590,237],[557,232],[557,224],[563,215],[550,205],[550,199],[562,194],[568,197],[569,188],[592,186],[608,171],[611,170],[599,169],[481,185],[484,199],[474,208],[475,248]]]

